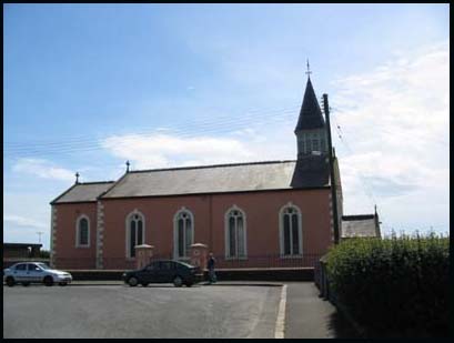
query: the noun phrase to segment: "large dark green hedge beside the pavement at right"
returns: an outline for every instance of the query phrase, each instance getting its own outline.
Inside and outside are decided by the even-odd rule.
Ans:
[[[447,335],[448,250],[434,233],[344,241],[327,254],[330,287],[373,332]]]

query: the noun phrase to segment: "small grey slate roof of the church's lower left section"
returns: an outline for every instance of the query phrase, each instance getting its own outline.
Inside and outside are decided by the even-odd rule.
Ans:
[[[68,191],[53,200],[51,204],[97,201],[97,198],[111,188],[113,183],[113,181],[75,183]]]

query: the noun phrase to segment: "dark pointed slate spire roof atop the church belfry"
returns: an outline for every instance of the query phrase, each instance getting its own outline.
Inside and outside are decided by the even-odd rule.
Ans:
[[[319,101],[316,100],[311,79],[307,78],[306,89],[304,91],[303,103],[301,105],[300,117],[297,119],[296,131],[319,129],[324,127],[324,119]]]

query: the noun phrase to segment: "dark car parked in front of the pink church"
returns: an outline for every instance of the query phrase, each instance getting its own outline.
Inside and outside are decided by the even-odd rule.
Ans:
[[[150,263],[140,270],[127,271],[122,279],[130,286],[141,284],[147,286],[149,283],[173,283],[175,287],[185,284],[188,287],[193,285],[200,279],[200,269],[191,264],[160,260]]]

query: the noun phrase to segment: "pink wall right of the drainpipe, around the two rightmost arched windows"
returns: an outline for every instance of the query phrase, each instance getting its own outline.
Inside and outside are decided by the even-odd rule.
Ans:
[[[246,214],[248,255],[279,254],[279,212],[289,202],[302,212],[303,253],[324,252],[331,244],[327,190],[213,198],[213,251],[224,253],[224,213],[235,204]]]

